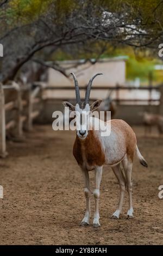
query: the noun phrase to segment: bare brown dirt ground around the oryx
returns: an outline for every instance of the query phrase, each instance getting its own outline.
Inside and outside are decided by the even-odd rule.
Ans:
[[[135,160],[134,216],[126,220],[127,193],[120,220],[119,186],[104,167],[99,210],[101,227],[80,227],[85,211],[82,173],[72,155],[74,133],[35,126],[22,143],[8,142],[9,156],[0,160],[1,245],[156,245],[163,244],[163,138],[144,137],[134,127],[137,144],[149,168]],[[93,185],[93,172],[91,185]],[[92,212],[94,200],[91,202]],[[91,219],[92,222],[92,219]],[[92,223],[91,223],[92,224]]]

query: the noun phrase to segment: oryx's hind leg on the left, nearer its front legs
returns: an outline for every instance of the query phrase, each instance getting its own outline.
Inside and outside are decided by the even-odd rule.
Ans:
[[[120,184],[120,188],[121,188],[121,193],[120,193],[120,200],[118,203],[118,208],[117,210],[114,212],[114,214],[112,215],[112,218],[119,218],[120,214],[122,212],[122,205],[123,205],[123,200],[124,200],[124,193],[126,190],[126,179],[124,178],[124,175],[122,173],[121,170],[121,166],[120,163],[117,164],[117,166],[112,167],[112,170]]]

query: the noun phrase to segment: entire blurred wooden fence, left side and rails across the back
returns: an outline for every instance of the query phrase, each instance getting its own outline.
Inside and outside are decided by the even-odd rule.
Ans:
[[[161,89],[160,89],[161,88]],[[125,102],[134,103],[145,102],[148,105],[153,105],[155,102],[160,104],[163,97],[160,99],[153,98],[153,91],[161,92],[163,87],[92,87],[92,90],[113,90],[114,100],[117,104]],[[85,91],[86,87],[80,87],[80,90]],[[0,83],[0,156],[7,156],[6,138],[11,136],[12,139],[20,141],[23,139],[23,131],[31,131],[33,128],[33,120],[41,113],[41,106],[43,100],[46,98],[46,92],[54,92],[55,90],[74,90],[74,87],[47,87],[46,83],[36,82],[31,86],[20,87],[15,82],[10,82],[8,85]],[[148,92],[148,99],[122,99],[120,92],[124,90],[146,90]],[[62,94],[62,93],[61,93]],[[163,95],[163,90],[160,95]],[[62,97],[62,95],[61,95]],[[53,98],[55,99],[55,97]],[[62,99],[65,99],[63,97]],[[92,99],[94,100],[94,99]],[[96,100],[96,99],[95,99]],[[162,103],[160,106],[163,106]],[[160,113],[163,113],[161,110]]]

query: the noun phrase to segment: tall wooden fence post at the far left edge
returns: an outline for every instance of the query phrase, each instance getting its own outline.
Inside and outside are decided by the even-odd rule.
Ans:
[[[5,137],[5,108],[4,108],[4,92],[2,83],[0,83],[0,156],[5,157],[8,153],[6,151],[6,137]]]

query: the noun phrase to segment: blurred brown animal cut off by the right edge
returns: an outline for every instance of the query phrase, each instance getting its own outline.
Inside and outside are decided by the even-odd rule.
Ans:
[[[143,124],[145,125],[145,135],[152,132],[152,126],[156,126],[159,134],[163,133],[163,116],[159,114],[143,113]]]

